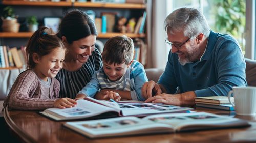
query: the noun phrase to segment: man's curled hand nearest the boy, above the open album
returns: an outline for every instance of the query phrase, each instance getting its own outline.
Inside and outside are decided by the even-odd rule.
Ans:
[[[145,82],[141,88],[142,95],[147,99],[162,93],[161,87],[155,81]]]

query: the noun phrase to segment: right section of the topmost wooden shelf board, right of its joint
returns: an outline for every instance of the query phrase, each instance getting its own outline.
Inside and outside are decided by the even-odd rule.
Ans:
[[[113,4],[113,3],[91,3],[91,2],[74,2],[75,7],[97,7],[97,8],[121,8],[121,9],[145,9],[144,4]]]

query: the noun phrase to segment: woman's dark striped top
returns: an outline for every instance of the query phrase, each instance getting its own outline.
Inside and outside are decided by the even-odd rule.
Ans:
[[[95,71],[102,67],[101,53],[97,48],[89,56],[88,61],[77,71],[61,69],[55,77],[60,82],[59,97],[74,99],[76,94],[90,82]]]

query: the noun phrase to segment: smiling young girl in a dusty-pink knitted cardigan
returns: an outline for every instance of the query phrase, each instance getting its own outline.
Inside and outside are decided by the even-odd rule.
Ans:
[[[47,27],[39,28],[30,38],[26,56],[27,70],[12,85],[4,107],[21,110],[73,107],[76,101],[60,98],[60,84],[54,77],[62,68],[66,48]]]

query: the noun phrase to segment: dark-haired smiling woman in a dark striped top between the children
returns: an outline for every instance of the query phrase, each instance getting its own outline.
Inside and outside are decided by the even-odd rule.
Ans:
[[[62,19],[57,35],[68,49],[63,68],[56,76],[60,82],[59,96],[74,99],[102,67],[101,54],[95,48],[97,30],[86,13],[73,10]]]

